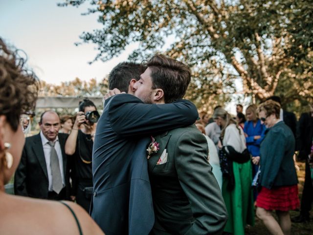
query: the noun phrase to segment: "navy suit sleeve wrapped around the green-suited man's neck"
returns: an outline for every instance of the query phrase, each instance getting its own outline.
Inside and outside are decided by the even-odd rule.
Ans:
[[[153,135],[193,124],[196,106],[188,100],[169,104],[145,104],[130,94],[112,97],[109,107],[112,129],[120,137]]]

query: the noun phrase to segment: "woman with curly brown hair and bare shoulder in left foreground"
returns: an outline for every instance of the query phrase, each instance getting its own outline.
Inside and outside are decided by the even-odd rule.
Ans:
[[[35,108],[38,83],[0,38],[0,234],[103,234],[78,205],[5,193],[22,156],[22,113]],[[18,226],[17,226],[18,225]]]

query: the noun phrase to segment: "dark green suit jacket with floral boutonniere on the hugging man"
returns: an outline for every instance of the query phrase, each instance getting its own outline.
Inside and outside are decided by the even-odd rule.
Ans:
[[[191,125],[157,136],[156,142],[160,149],[148,160],[156,218],[150,234],[222,234],[227,212],[204,136]],[[164,151],[167,162],[157,164]]]

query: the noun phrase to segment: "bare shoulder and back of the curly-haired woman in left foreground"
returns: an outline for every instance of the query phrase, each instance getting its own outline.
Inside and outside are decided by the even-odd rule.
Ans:
[[[5,195],[0,234],[78,235],[73,213],[61,202]],[[80,206],[65,202],[76,215],[84,235],[103,235],[99,226]],[[19,226],[16,226],[19,224]]]

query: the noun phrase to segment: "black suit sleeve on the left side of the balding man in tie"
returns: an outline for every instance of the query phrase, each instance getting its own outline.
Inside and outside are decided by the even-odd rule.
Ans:
[[[22,158],[14,175],[14,194],[20,196],[28,196],[26,188],[26,152],[25,147],[22,152]]]

